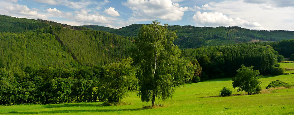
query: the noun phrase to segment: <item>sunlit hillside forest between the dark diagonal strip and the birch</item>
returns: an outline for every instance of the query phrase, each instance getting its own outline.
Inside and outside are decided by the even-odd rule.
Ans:
[[[60,44],[66,46],[68,53],[81,65],[94,66],[117,62],[129,57],[132,42],[123,36],[103,31],[78,31],[52,28]]]

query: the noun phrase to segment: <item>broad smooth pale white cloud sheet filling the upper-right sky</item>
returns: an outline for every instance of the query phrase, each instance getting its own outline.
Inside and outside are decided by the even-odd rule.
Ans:
[[[268,6],[243,0],[210,2],[208,6],[209,12],[222,12],[228,18],[258,22],[268,30],[294,30],[294,7]]]

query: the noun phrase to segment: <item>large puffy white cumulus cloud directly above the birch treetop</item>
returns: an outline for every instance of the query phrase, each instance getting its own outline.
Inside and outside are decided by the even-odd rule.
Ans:
[[[165,21],[178,21],[182,19],[184,11],[188,7],[179,7],[172,4],[171,0],[128,0],[123,5],[133,10],[133,16],[137,19]]]

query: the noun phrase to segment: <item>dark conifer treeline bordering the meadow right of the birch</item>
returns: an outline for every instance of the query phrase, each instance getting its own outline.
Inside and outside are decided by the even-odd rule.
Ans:
[[[270,74],[277,65],[277,51],[271,46],[252,44],[208,46],[182,50],[182,57],[195,58],[202,67],[201,80],[233,77],[240,65],[254,66]]]

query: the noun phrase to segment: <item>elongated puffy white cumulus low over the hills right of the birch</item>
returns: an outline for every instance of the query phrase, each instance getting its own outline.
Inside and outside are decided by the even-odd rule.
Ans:
[[[240,27],[246,27],[250,29],[264,30],[263,26],[260,25],[258,22],[245,21],[239,17],[235,19],[228,18],[227,16],[223,15],[223,13],[221,12],[201,13],[200,11],[197,11],[196,14],[193,16],[193,20],[195,20],[198,25],[205,25],[205,26],[209,25],[212,27],[240,26]]]

